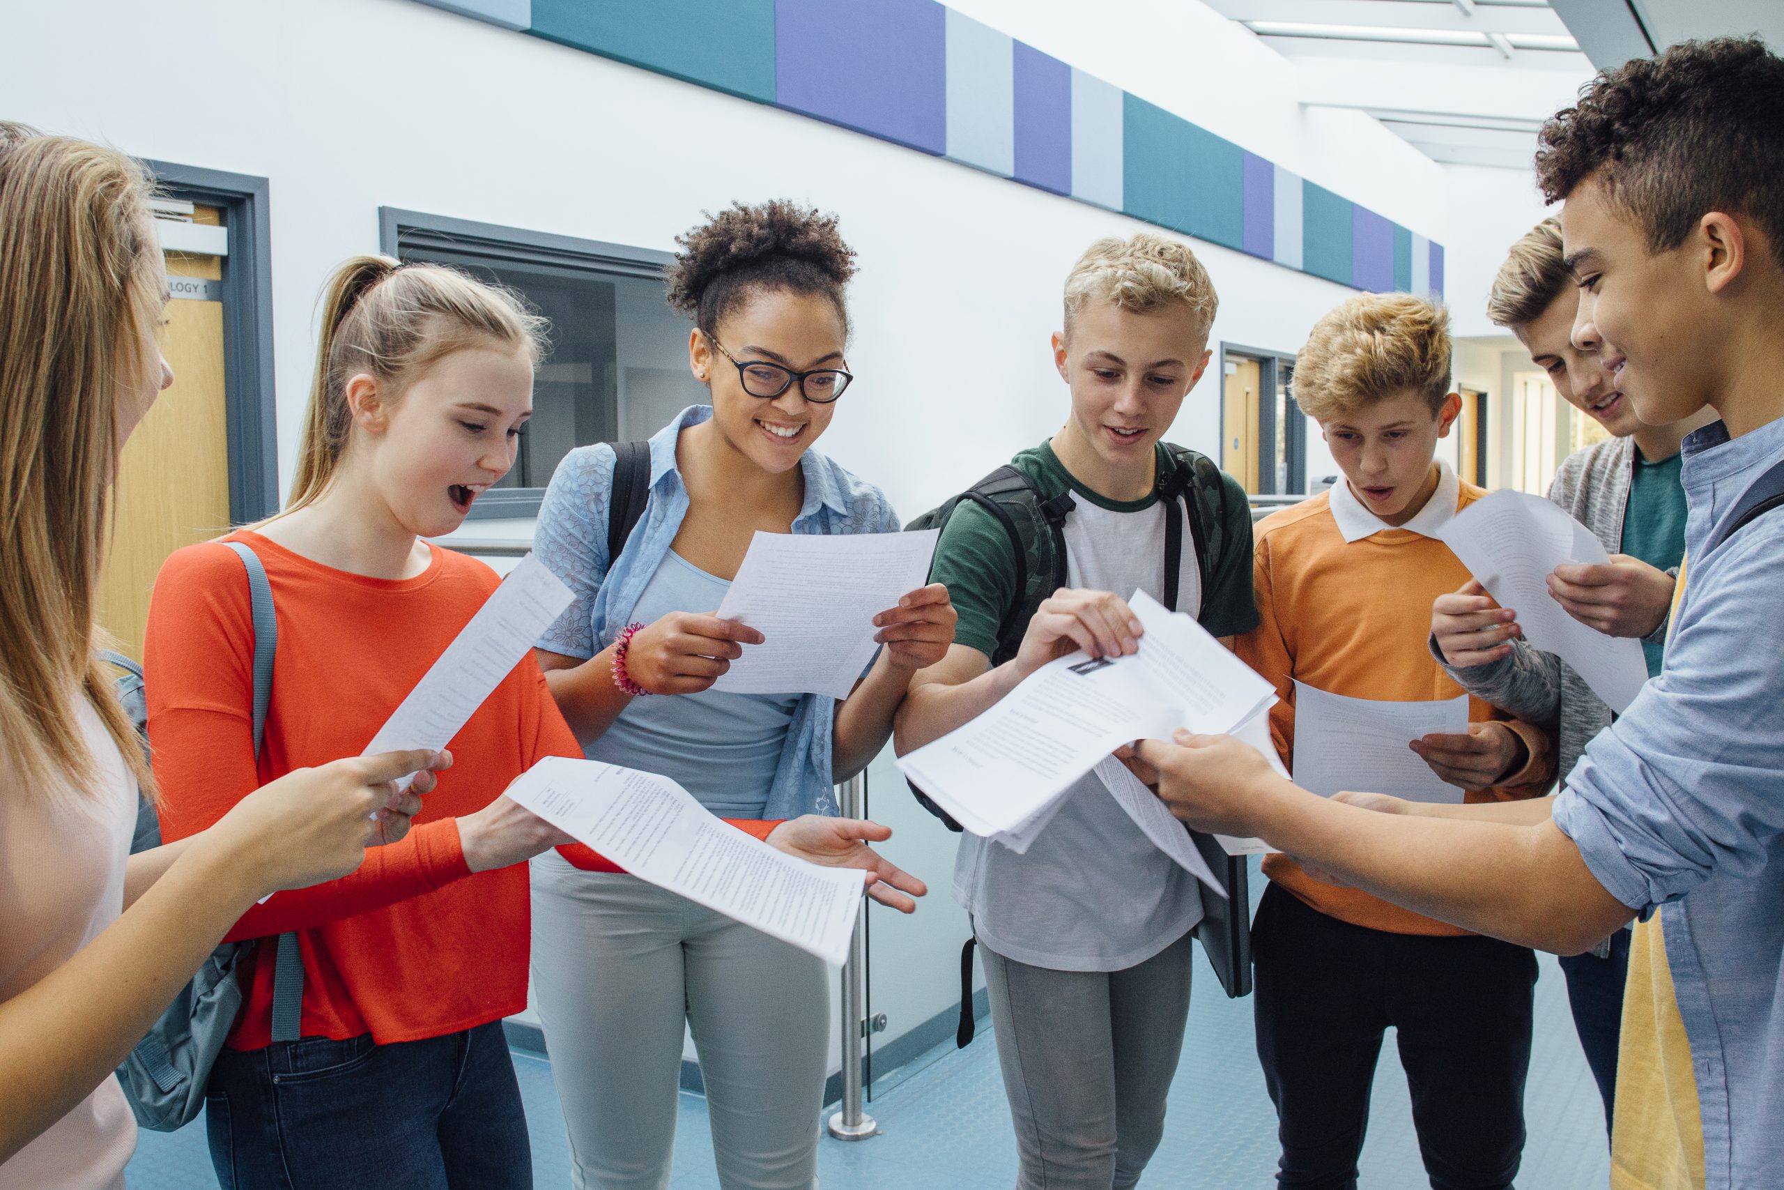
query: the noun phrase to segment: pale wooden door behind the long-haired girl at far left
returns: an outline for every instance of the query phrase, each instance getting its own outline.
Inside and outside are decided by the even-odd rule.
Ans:
[[[194,207],[193,223],[219,225],[221,211]],[[100,626],[120,651],[143,658],[148,596],[168,555],[230,528],[228,439],[223,400],[223,259],[168,252],[168,277],[209,280],[180,285],[168,303],[161,351],[173,366],[162,393],[125,444],[112,494],[111,555],[100,574]]]

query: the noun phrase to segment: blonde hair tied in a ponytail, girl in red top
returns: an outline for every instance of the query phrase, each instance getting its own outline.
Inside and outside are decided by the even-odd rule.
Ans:
[[[353,430],[346,400],[353,376],[375,378],[380,400],[394,403],[453,351],[492,346],[533,364],[544,353],[546,323],[521,298],[444,264],[351,257],[328,278],[319,309],[321,343],[287,512],[321,496],[341,466]]]

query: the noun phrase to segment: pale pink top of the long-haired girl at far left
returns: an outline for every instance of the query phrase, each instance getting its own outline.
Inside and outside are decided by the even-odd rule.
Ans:
[[[136,778],[98,714],[78,699],[100,765],[96,794],[21,789],[0,762],[0,1001],[12,999],[123,912]],[[116,1074],[0,1163],[0,1190],[116,1190],[136,1151],[136,1117]]]

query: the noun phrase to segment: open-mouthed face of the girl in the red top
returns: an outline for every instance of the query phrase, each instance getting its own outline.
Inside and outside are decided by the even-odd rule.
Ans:
[[[464,348],[435,360],[394,405],[366,375],[346,394],[357,423],[348,460],[398,525],[439,537],[514,466],[533,414],[533,368],[517,351]]]

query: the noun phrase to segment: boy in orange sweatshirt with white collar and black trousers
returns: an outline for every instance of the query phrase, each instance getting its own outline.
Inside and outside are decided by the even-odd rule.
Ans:
[[[1276,683],[1270,733],[1293,764],[1295,683],[1377,701],[1463,689],[1425,648],[1431,601],[1468,580],[1433,537],[1486,492],[1434,460],[1461,398],[1449,318],[1408,294],[1363,294],[1320,319],[1295,364],[1345,482],[1258,526],[1263,623],[1236,651]],[[1411,740],[1468,801],[1536,797],[1549,733],[1468,699],[1466,735]],[[1536,958],[1367,892],[1286,855],[1254,931],[1258,1056],[1279,1117],[1283,1186],[1354,1188],[1383,1031],[1399,1031],[1418,1147],[1436,1190],[1511,1186],[1524,1149]]]

